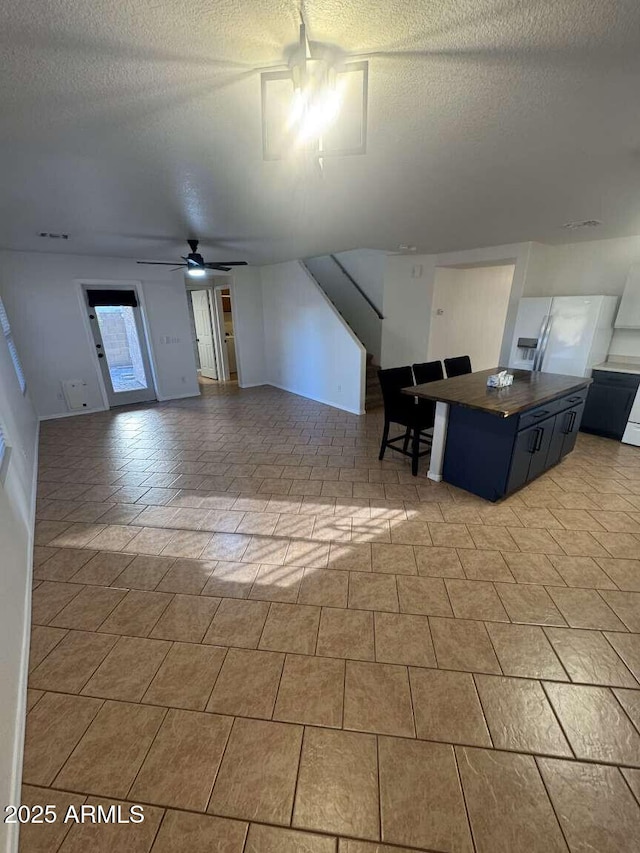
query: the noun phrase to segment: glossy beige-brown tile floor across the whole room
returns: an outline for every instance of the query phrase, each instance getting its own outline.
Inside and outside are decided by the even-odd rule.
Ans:
[[[23,801],[146,820],[22,850],[638,851],[640,450],[493,505],[203,391],[43,425]]]

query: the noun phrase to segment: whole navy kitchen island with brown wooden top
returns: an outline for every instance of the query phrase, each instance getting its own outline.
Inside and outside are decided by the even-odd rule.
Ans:
[[[504,369],[403,389],[436,403],[431,480],[497,501],[573,450],[592,380],[510,370],[512,385],[488,388],[487,377]]]

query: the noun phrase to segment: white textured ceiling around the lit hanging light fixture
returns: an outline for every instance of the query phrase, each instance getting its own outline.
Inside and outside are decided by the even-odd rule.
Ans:
[[[0,246],[269,262],[640,234],[638,0],[305,0],[371,53],[365,156],[264,162],[286,0],[21,0],[0,11]],[[68,241],[38,239],[66,231]]]

